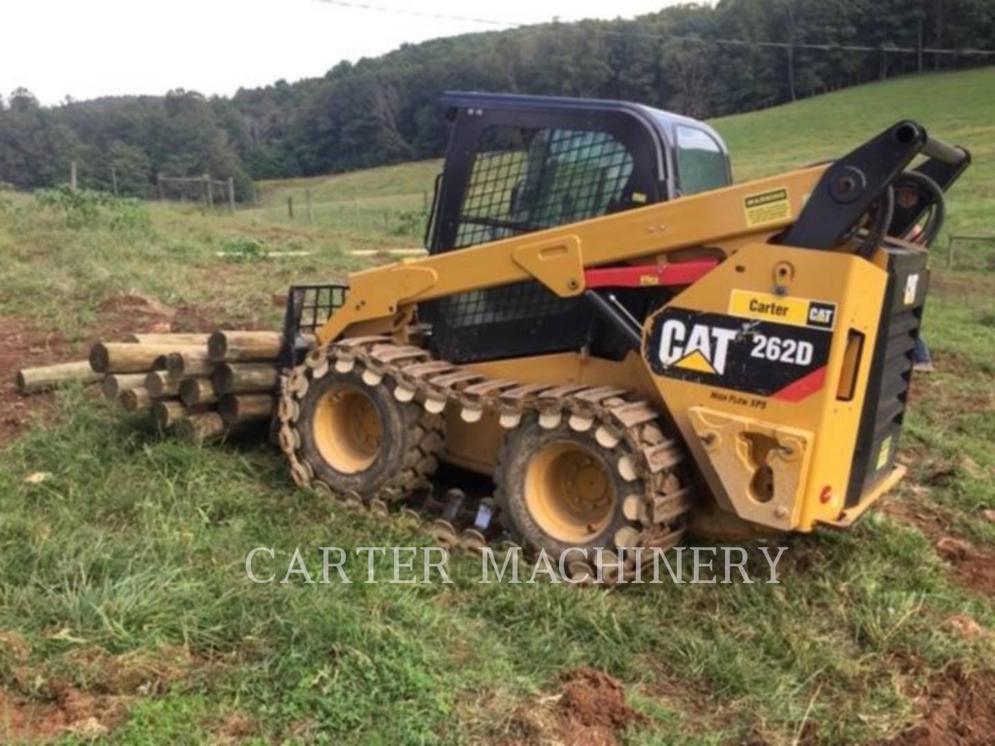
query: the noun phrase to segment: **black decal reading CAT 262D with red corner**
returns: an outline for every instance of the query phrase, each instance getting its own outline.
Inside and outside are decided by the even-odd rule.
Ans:
[[[668,378],[797,402],[823,387],[827,328],[667,308],[653,320],[647,362]]]

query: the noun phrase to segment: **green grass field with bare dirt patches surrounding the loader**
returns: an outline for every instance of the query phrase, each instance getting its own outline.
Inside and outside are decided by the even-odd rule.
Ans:
[[[714,123],[749,178],[919,118],[974,153],[948,231],[995,235],[992,90],[995,69],[910,78]],[[438,167],[274,182],[234,216],[153,205],[76,227],[0,192],[3,383],[153,322],[275,324],[291,281],[362,266],[349,249],[418,245],[410,216]],[[255,585],[257,546],[277,548],[258,567],[280,577],[296,547],[319,574],[320,546],[430,542],[296,489],[268,448],[194,448],[81,390],[5,388],[0,742],[990,743],[995,273],[938,268],[925,323],[937,371],[914,382],[910,477],[849,532],[779,542],[780,585],[484,586],[471,557],[452,585]]]

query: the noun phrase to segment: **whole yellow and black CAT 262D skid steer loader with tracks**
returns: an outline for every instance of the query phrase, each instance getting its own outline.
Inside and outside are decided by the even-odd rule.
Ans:
[[[896,484],[966,150],[905,120],[733,184],[713,129],[648,106],[443,103],[429,256],[292,288],[275,424],[298,484],[448,544],[608,548],[609,581],[689,529],[849,526]],[[440,460],[494,499],[440,500]]]

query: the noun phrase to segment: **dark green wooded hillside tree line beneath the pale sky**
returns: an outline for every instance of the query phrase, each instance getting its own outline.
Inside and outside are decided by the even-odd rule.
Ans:
[[[322,78],[231,97],[177,90],[47,107],[19,89],[0,98],[0,182],[51,186],[67,180],[75,160],[92,188],[116,183],[123,194],[149,196],[156,174],[210,173],[233,177],[245,198],[253,179],[440,155],[445,90],[623,98],[704,118],[990,64],[970,51],[992,39],[991,0],[720,0],[628,21],[404,45]]]

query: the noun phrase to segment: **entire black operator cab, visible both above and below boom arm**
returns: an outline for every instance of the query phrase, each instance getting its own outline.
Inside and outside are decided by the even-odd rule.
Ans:
[[[433,255],[732,182],[714,129],[639,103],[507,93],[444,93],[442,103],[453,129],[426,229]],[[638,320],[663,292],[619,291],[617,300]],[[534,280],[420,303],[418,313],[429,347],[454,363],[625,354],[589,304]]]

